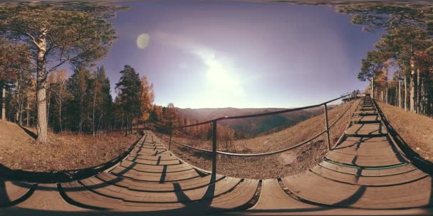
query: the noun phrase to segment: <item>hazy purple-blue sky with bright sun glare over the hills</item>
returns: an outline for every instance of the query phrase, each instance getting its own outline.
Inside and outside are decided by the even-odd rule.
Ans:
[[[112,87],[131,65],[153,82],[156,104],[182,108],[300,107],[363,90],[356,75],[379,39],[329,6],[122,4],[131,9],[111,19],[119,38],[101,62]]]

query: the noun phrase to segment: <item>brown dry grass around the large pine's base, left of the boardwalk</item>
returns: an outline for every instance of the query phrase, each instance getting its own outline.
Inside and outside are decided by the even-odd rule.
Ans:
[[[34,132],[34,129],[30,129]],[[64,171],[96,166],[120,155],[137,139],[120,133],[91,135],[49,133],[38,144],[18,125],[0,121],[0,164],[24,171]]]

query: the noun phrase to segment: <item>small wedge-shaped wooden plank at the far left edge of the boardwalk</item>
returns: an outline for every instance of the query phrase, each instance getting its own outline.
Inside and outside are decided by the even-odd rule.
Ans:
[[[0,179],[0,206],[11,205],[11,202],[26,195],[31,184],[18,181]]]

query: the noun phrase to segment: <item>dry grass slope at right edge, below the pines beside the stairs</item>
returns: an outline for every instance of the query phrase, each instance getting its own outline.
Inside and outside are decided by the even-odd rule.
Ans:
[[[419,156],[433,162],[433,119],[389,104],[378,104],[388,122],[407,145],[419,153]]]

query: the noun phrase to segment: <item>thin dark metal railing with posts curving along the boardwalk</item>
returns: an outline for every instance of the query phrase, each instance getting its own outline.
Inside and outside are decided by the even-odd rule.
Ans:
[[[348,109],[351,108],[351,106],[338,118],[336,119],[333,124],[329,124],[329,120],[328,120],[328,104],[331,102],[335,102],[338,99],[343,99],[345,97],[348,97],[348,101],[350,102],[352,99],[355,99],[357,97],[357,95],[354,95],[353,93],[350,94],[345,94],[341,97],[335,98],[335,99],[331,99],[327,102],[323,102],[321,104],[315,104],[315,105],[311,105],[311,106],[307,106],[307,107],[298,107],[298,108],[294,108],[294,109],[284,109],[284,110],[280,110],[280,111],[276,111],[276,112],[266,112],[266,113],[260,113],[260,114],[248,114],[248,115],[241,115],[241,116],[234,116],[234,117],[220,117],[217,119],[212,119],[209,121],[203,121],[197,124],[189,124],[189,125],[183,125],[183,126],[175,126],[172,127],[171,129],[169,129],[169,144],[168,144],[168,149],[170,150],[171,148],[171,144],[172,142],[174,144],[179,144],[180,146],[184,146],[187,148],[192,148],[194,150],[197,151],[204,151],[204,152],[208,152],[208,153],[212,153],[212,173],[216,173],[216,154],[223,154],[226,156],[269,156],[272,154],[276,154],[276,153],[281,153],[284,151],[289,151],[293,148],[297,148],[299,146],[302,146],[304,144],[307,144],[308,142],[313,141],[314,139],[318,138],[319,136],[326,134],[326,143],[328,145],[328,151],[330,151],[330,128],[332,128],[335,123],[337,123],[338,120],[340,120],[343,115],[348,111]],[[217,135],[217,131],[216,131],[216,123],[218,121],[221,120],[228,120],[228,119],[246,119],[246,118],[253,118],[253,117],[264,117],[264,116],[269,116],[269,115],[274,115],[274,114],[283,114],[283,113],[288,113],[288,112],[296,112],[299,110],[303,110],[303,109],[311,109],[311,108],[315,108],[315,107],[321,107],[323,106],[323,109],[325,111],[325,130],[321,131],[319,134],[316,134],[315,136],[313,136],[312,138],[303,141],[299,144],[296,144],[294,146],[288,147],[288,148],[283,148],[277,151],[271,151],[271,152],[266,152],[266,153],[230,153],[230,152],[224,152],[224,151],[216,151],[216,135]],[[207,149],[203,149],[203,148],[197,148],[194,146],[188,146],[185,144],[181,144],[177,141],[173,141],[172,140],[172,131],[174,129],[183,129],[183,128],[187,128],[187,127],[192,127],[192,126],[199,126],[199,125],[203,125],[203,124],[212,124],[212,150],[207,150]],[[162,137],[161,137],[162,138]]]

